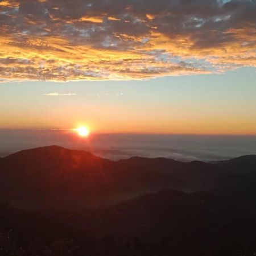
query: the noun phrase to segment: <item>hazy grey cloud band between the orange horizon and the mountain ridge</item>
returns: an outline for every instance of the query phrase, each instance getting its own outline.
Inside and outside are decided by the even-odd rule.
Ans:
[[[0,157],[19,150],[52,144],[90,151],[112,160],[142,156],[171,158],[183,162],[208,162],[256,154],[256,137],[92,134],[86,141],[65,130],[0,130]]]

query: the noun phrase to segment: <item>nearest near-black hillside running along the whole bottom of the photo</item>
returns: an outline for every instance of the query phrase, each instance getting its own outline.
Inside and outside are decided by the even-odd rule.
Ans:
[[[256,251],[255,223],[205,192],[167,189],[108,209],[50,215],[0,204],[1,255],[249,256]]]

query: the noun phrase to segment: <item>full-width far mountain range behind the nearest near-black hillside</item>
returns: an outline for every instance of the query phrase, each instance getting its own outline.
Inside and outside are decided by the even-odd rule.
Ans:
[[[251,158],[240,164],[250,169],[244,172],[253,172]],[[59,146],[34,148],[0,159],[0,201],[23,209],[76,210],[102,208],[166,188],[210,191],[233,177],[233,161],[135,157],[113,162]]]

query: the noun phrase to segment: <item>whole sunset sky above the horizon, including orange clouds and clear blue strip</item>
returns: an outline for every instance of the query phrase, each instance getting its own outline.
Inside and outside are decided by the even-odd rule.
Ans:
[[[256,1],[0,0],[0,128],[256,135]]]

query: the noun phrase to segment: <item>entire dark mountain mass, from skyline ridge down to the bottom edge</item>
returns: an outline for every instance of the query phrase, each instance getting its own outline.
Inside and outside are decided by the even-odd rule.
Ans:
[[[113,162],[49,146],[0,159],[0,255],[254,255],[256,156]]]

